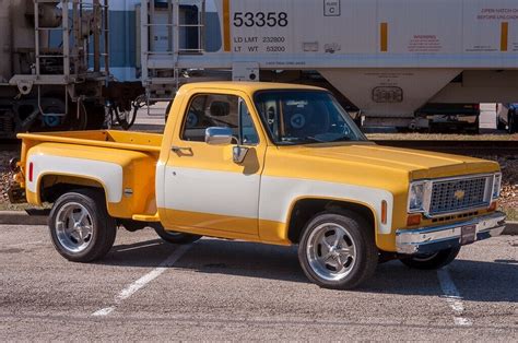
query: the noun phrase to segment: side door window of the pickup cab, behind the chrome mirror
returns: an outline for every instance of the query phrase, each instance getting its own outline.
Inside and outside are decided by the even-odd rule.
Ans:
[[[239,126],[240,123],[240,126]],[[205,129],[210,127],[231,128],[236,139],[244,145],[259,143],[246,103],[235,95],[196,95],[185,115],[181,139],[204,142]]]

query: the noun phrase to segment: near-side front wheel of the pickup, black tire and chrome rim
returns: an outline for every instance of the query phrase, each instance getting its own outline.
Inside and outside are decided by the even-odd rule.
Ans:
[[[317,239],[315,239],[318,235],[325,236],[326,238],[323,239],[326,240],[333,236],[328,235],[330,227],[332,228],[331,232],[333,227],[341,230],[339,235],[338,230],[334,229],[333,247],[335,250],[333,252],[329,248],[329,241],[326,245],[328,248],[325,248],[323,243],[317,243]],[[322,229],[328,232],[322,234]],[[342,239],[342,244],[342,244],[339,245],[339,239]],[[352,255],[346,253],[345,260],[343,260],[341,253],[337,252],[342,248],[351,249],[351,247],[354,248],[354,258]],[[325,255],[323,249],[328,250],[327,256],[338,253],[339,257],[322,258],[322,255]],[[311,251],[319,256],[311,257]],[[315,262],[315,260],[320,261]],[[333,273],[333,267],[327,263],[330,260],[341,265],[340,270],[345,270],[342,273],[343,275],[337,273],[338,268],[334,268],[335,271]],[[320,287],[332,289],[354,288],[369,279],[378,264],[378,249],[375,244],[374,227],[363,216],[351,211],[335,210],[317,214],[304,228],[298,245],[298,261],[306,276]],[[322,276],[322,274],[326,276]]]

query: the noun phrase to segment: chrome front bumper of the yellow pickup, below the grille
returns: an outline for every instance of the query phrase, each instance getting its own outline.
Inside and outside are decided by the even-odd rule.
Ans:
[[[436,252],[499,236],[504,228],[505,214],[495,212],[443,226],[398,229],[396,232],[396,248],[398,252],[407,255]]]

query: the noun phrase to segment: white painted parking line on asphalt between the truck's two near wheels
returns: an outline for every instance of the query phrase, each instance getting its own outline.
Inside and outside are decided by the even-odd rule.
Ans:
[[[111,314],[122,300],[132,296],[137,291],[144,287],[146,284],[158,277],[162,273],[164,273],[168,268],[170,268],[176,261],[178,261],[186,252],[189,250],[191,245],[185,245],[178,247],[167,259],[165,259],[160,265],[153,269],[148,274],[143,275],[136,282],[128,285],[126,288],[119,292],[115,297],[115,304],[109,307],[102,308],[92,314],[94,317],[104,317]]]

